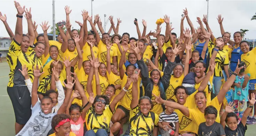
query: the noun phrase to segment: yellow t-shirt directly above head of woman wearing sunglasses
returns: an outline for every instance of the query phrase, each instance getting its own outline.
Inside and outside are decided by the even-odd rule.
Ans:
[[[106,71],[107,72],[107,71]],[[106,88],[108,87],[109,85],[109,82],[108,82],[108,79],[106,77],[102,77],[100,74],[99,74],[99,79],[100,79],[100,90],[101,90],[101,94],[104,95],[105,94],[105,91],[106,91]],[[94,95],[96,96],[96,80],[95,80],[95,75],[93,75],[93,83],[92,83],[92,90],[93,90],[93,93]]]

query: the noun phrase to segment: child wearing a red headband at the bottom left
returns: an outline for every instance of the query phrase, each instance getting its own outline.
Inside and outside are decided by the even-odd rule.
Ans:
[[[55,133],[49,136],[76,136],[73,132],[70,132],[70,116],[67,114],[57,114],[52,119],[52,128]]]

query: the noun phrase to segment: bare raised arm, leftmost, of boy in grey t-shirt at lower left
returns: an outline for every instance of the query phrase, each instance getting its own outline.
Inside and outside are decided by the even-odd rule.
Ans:
[[[38,81],[39,81],[40,75],[44,73],[44,72],[40,73],[41,69],[42,69],[42,66],[39,69],[38,65],[36,65],[36,69],[34,69],[34,80],[33,80],[32,92],[31,92],[31,107],[34,107],[34,105],[38,101],[38,95],[37,95]]]

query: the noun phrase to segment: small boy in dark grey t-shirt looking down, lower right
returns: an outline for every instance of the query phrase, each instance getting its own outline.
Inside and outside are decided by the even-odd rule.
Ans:
[[[204,109],[204,118],[206,122],[199,125],[199,136],[226,136],[222,125],[216,122],[218,111],[214,106],[207,106]]]

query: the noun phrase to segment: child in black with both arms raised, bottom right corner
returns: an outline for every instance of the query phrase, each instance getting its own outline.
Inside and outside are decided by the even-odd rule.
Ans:
[[[256,102],[254,93],[251,94],[251,99],[248,98],[248,101],[249,105],[246,108],[245,112],[243,113],[241,122],[239,124],[238,116],[235,113],[233,113],[234,110],[232,110],[232,102],[226,104],[225,112],[222,114],[222,117],[220,118],[220,123],[222,124],[227,136],[245,136],[245,131],[247,130],[247,116],[249,115],[251,109],[253,109],[253,105]]]

